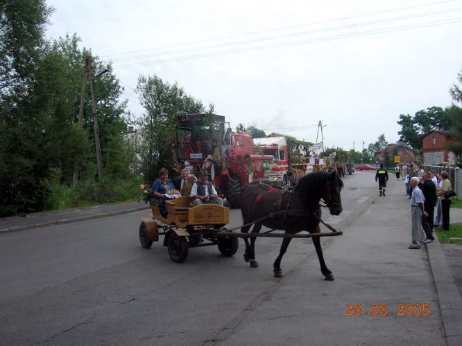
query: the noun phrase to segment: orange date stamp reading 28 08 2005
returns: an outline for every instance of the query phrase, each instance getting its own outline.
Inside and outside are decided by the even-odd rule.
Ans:
[[[359,303],[345,304],[345,316],[429,316],[430,304],[398,303],[388,307],[386,303],[370,304],[369,309]]]

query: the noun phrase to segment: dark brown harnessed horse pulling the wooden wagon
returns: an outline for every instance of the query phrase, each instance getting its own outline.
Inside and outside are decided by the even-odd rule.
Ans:
[[[332,215],[339,215],[342,212],[341,188],[343,182],[336,172],[307,174],[298,181],[293,192],[276,190],[264,184],[248,185],[241,192],[243,224],[256,221],[252,233],[259,233],[262,226],[285,230],[286,234],[295,234],[302,230],[320,233],[320,200],[323,199]],[[271,214],[273,216],[268,217]],[[251,226],[244,226],[242,232],[248,233]],[[250,261],[250,266],[256,268],[258,262],[255,260],[255,237],[250,238],[250,244],[247,238],[244,238],[244,242],[246,242],[244,260]],[[280,264],[290,242],[291,238],[282,240],[279,256],[273,264],[275,277],[282,277]],[[325,265],[319,237],[313,237],[313,244],[325,280],[334,280],[334,275]]]

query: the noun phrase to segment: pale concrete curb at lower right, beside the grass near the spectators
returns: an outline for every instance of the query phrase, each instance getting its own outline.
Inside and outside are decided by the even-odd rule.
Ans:
[[[462,299],[438,235],[436,239],[436,242],[427,244],[431,275],[436,286],[447,345],[459,346],[462,345]]]

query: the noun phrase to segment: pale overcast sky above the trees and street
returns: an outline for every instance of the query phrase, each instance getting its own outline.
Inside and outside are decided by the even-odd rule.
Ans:
[[[462,0],[47,0],[49,37],[113,62],[135,115],[139,75],[178,82],[239,123],[361,151],[400,114],[451,104]]]

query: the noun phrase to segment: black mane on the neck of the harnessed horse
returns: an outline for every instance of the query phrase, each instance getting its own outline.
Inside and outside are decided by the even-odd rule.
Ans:
[[[332,172],[313,172],[309,173],[298,181],[293,193],[302,201],[318,200],[321,197],[325,184],[334,177],[334,181],[339,184],[339,188],[343,188],[343,181]]]

